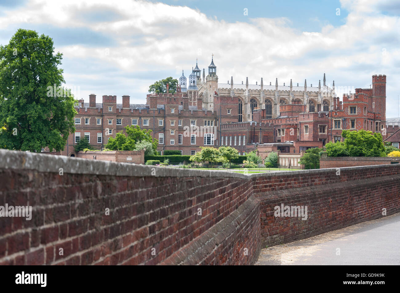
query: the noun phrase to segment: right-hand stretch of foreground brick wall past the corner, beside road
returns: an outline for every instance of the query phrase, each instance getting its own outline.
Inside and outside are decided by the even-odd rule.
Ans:
[[[400,211],[400,165],[282,172],[254,178],[262,247],[304,239]],[[274,207],[308,206],[308,219],[275,217]]]

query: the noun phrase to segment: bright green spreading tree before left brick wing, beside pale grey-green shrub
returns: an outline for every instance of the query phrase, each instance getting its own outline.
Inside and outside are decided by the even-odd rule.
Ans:
[[[115,138],[110,138],[108,140],[105,147],[111,150],[134,151],[137,150],[137,143],[141,142],[143,144],[143,142],[149,142],[153,149],[153,155],[158,155],[158,140],[153,140],[151,136],[152,130],[140,129],[138,125],[126,126],[125,130],[126,135],[122,131],[118,132]]]

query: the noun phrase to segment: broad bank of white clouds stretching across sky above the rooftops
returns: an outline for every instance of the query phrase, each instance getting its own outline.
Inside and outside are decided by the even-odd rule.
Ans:
[[[103,90],[98,84],[115,80],[116,88],[97,92],[98,97],[115,90],[118,96],[135,95],[144,102],[149,83],[166,77],[149,78],[148,72],[170,72],[168,76],[178,78],[184,68],[188,76],[196,57],[199,67],[206,68],[213,53],[220,82],[233,76],[234,82],[240,83],[248,76],[250,83],[259,82],[261,77],[265,84],[274,83],[277,77],[279,84],[288,84],[292,78],[295,84],[302,85],[307,79],[307,84],[317,85],[326,72],[328,83],[335,79],[338,86],[358,88],[369,85],[372,74],[386,74],[388,104],[394,103],[394,81],[400,78],[396,69],[400,64],[400,19],[383,14],[380,8],[395,10],[396,2],[342,0],[341,4],[349,12],[344,24],[327,24],[320,32],[299,33],[288,18],[230,23],[183,6],[108,0],[61,4],[32,0],[23,8],[4,11],[0,26],[83,28],[110,38],[110,43],[91,46],[56,44],[64,58],[95,64],[90,74],[74,68],[65,72],[67,82],[81,83],[81,92]],[[114,70],[109,72],[109,68]],[[388,105],[387,112],[387,117],[397,115],[393,106]]]

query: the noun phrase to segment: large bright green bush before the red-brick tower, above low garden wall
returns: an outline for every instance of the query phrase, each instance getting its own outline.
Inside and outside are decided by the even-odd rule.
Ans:
[[[343,130],[342,136],[351,157],[386,157],[380,132]]]

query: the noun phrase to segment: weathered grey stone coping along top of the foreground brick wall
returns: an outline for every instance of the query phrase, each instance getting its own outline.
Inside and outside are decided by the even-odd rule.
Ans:
[[[356,167],[340,167],[340,170],[374,169],[384,168],[386,165],[368,165]],[[400,167],[400,164],[399,164]],[[250,179],[253,177],[270,177],[279,175],[300,175],[307,173],[320,173],[321,170],[336,172],[337,168],[312,169],[299,171],[277,171],[265,173],[254,173],[244,175],[227,171],[194,170],[168,167],[155,167],[152,165],[140,165],[131,163],[119,163],[111,161],[88,160],[77,157],[62,155],[49,156],[42,153],[31,153],[25,151],[13,151],[0,149],[0,169],[30,169],[39,172],[59,173],[60,168],[64,173],[114,175],[132,177],[234,177]],[[156,172],[154,174],[154,168]],[[153,173],[153,174],[152,174]]]

